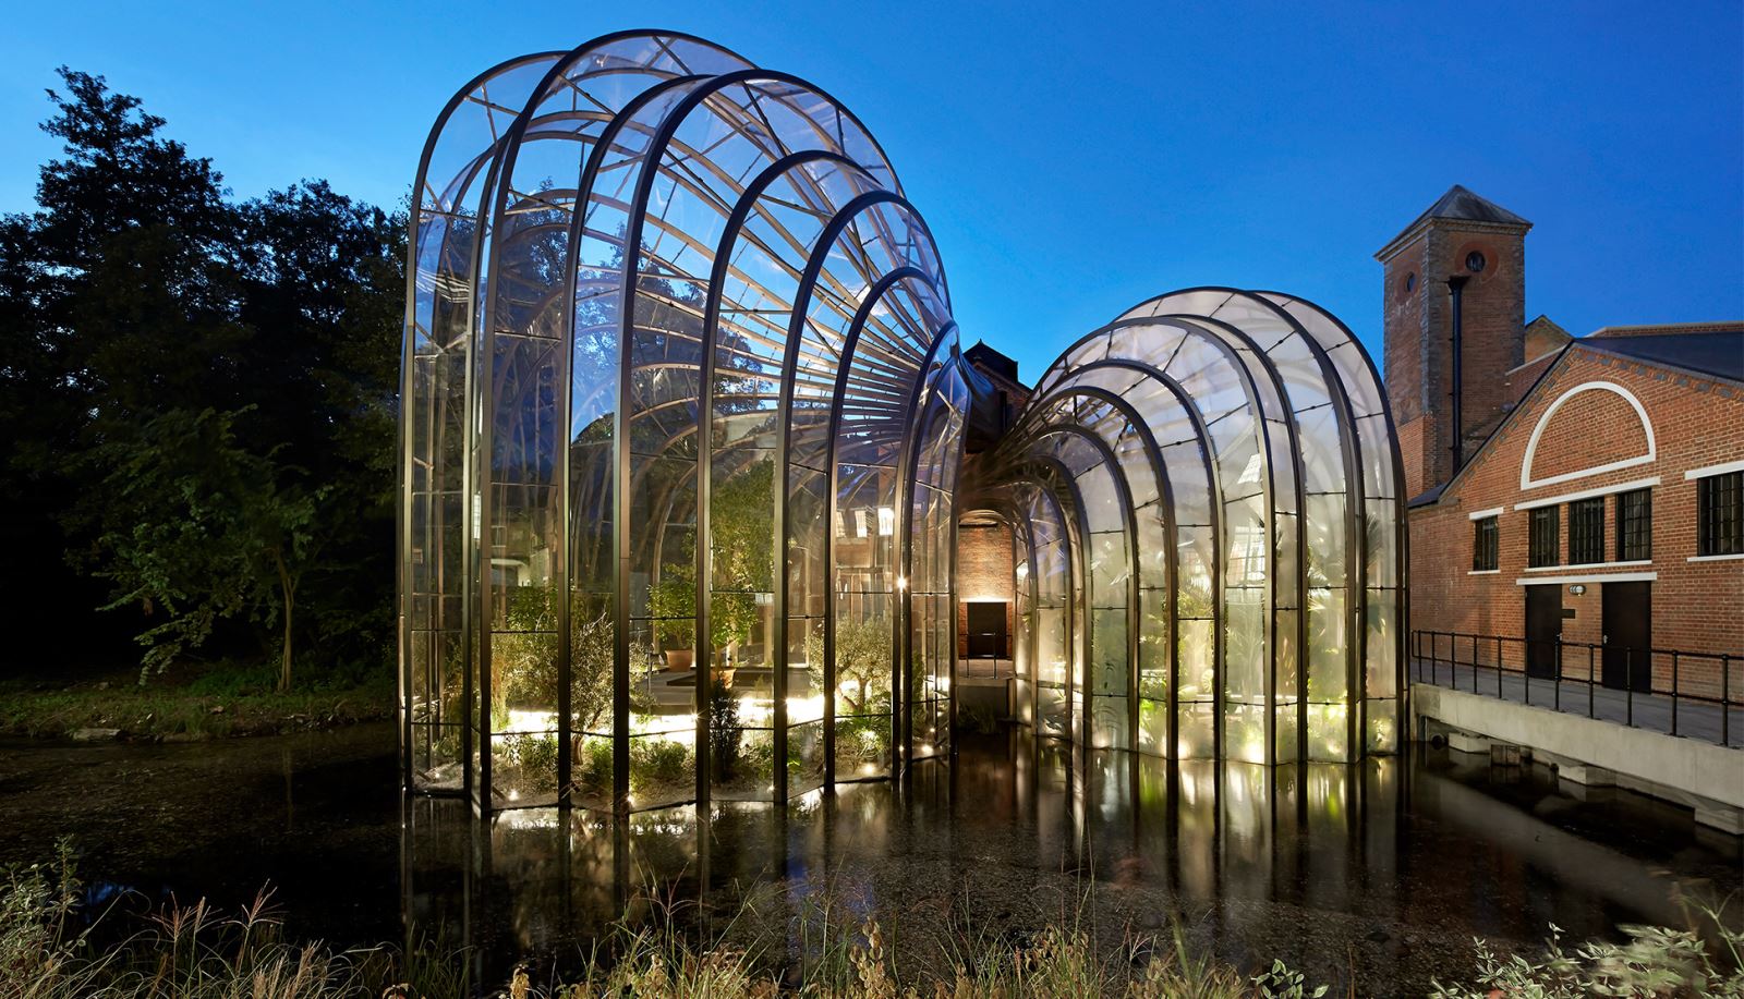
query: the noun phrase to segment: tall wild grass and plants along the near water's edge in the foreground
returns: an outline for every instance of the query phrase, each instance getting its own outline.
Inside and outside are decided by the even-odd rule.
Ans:
[[[956,926],[940,947],[942,971],[898,968],[886,929],[828,894],[774,934],[738,917],[699,947],[671,910],[647,926],[619,926],[579,968],[544,980],[516,968],[481,983],[467,952],[337,950],[284,940],[267,896],[221,915],[204,901],[150,915],[126,936],[80,910],[72,847],[49,865],[7,872],[0,884],[0,999],[1308,999],[1324,996],[1282,964],[1257,976],[1196,955],[1170,938],[1121,934],[1100,947],[1066,917],[1022,943]],[[748,905],[755,905],[753,901]],[[741,910],[741,915],[746,912]],[[750,922],[750,921],[748,921]],[[1477,941],[1479,982],[1435,985],[1446,999],[1484,996],[1732,996],[1744,997],[1741,936],[1723,931],[1714,954],[1693,933],[1627,929],[1629,943],[1564,950],[1552,936],[1542,961],[1500,957]]]

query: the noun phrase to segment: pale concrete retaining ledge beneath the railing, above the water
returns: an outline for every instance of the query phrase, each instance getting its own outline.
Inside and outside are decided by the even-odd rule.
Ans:
[[[1669,800],[1686,800],[1685,795],[1702,799],[1706,805],[1690,802],[1699,818],[1704,811],[1720,812],[1714,805],[1744,809],[1744,751],[1739,750],[1430,683],[1411,685],[1411,715],[1434,718],[1496,743],[1542,750],[1568,760],[1559,769],[1563,776],[1587,778],[1582,781],[1587,785],[1603,781],[1624,786],[1657,785],[1674,793],[1652,790],[1648,793]],[[1578,776],[1566,772],[1575,767],[1580,767]],[[1707,825],[1725,828],[1730,819]]]

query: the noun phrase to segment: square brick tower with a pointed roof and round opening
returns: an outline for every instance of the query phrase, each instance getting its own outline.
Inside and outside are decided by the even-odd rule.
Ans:
[[[1512,408],[1505,375],[1526,361],[1529,228],[1453,185],[1374,255],[1406,499],[1446,485]]]

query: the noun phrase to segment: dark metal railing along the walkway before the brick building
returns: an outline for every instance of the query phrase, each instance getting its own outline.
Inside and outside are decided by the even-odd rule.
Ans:
[[[1554,673],[1535,675],[1545,666]],[[1744,656],[1735,652],[1413,631],[1411,678],[1631,729],[1744,744]]]

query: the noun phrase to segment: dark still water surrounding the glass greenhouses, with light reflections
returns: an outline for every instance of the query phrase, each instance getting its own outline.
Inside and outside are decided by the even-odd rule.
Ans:
[[[501,969],[574,952],[619,914],[710,933],[795,933],[806,900],[877,912],[902,957],[938,962],[973,926],[1018,941],[1069,919],[1114,941],[1167,933],[1257,966],[1282,957],[1364,994],[1470,969],[1470,938],[1535,950],[1617,924],[1688,924],[1737,891],[1744,846],[1629,792],[1421,748],[1355,767],[1167,764],[964,737],[956,765],[790,809],[638,816],[405,802],[394,731],[192,746],[0,748],[0,863],[77,835],[85,879],[239,905],[272,884],[290,931],[333,943],[427,934]],[[746,908],[748,907],[748,908]]]

